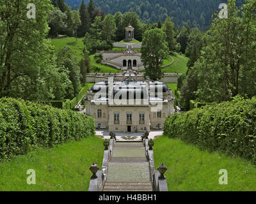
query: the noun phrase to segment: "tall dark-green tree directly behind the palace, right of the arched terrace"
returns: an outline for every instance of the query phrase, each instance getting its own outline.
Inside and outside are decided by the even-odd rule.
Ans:
[[[168,43],[166,34],[158,28],[145,31],[141,46],[141,61],[145,66],[145,75],[152,80],[163,77],[161,65],[168,57]]]

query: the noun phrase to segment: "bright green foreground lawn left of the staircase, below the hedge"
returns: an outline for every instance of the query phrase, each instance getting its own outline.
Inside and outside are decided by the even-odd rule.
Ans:
[[[103,152],[103,140],[95,136],[1,161],[0,191],[87,191],[89,167],[95,161],[101,170]],[[29,169],[36,172],[36,185],[26,182]]]

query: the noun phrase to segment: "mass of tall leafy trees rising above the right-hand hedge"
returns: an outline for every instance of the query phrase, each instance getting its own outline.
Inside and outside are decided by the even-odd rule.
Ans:
[[[228,18],[214,18],[204,37],[206,45],[182,85],[181,95],[186,101],[196,98],[201,102],[221,102],[237,94],[248,98],[256,95],[255,9],[255,0],[246,1],[241,10],[235,0],[228,0]],[[196,38],[200,35],[196,34],[195,41]],[[191,62],[198,55],[196,47],[188,45]],[[195,80],[198,84],[194,86],[191,83]]]

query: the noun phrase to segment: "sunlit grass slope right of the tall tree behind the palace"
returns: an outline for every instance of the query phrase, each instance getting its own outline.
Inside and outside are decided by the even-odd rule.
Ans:
[[[188,69],[187,63],[189,58],[186,57],[185,55],[180,55],[178,53],[173,54],[172,58],[174,59],[173,64],[168,66],[168,68],[164,68],[163,71],[166,73],[175,73],[175,71],[177,73],[186,73]]]

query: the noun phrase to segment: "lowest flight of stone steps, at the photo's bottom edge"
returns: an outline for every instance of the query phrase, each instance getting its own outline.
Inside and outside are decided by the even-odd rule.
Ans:
[[[152,191],[150,182],[106,182],[103,191]]]

